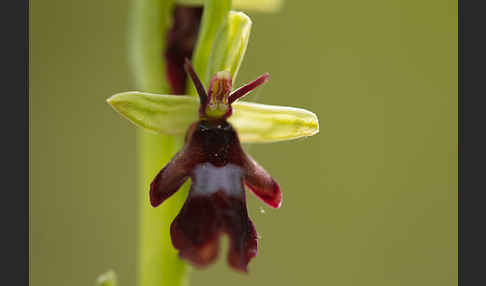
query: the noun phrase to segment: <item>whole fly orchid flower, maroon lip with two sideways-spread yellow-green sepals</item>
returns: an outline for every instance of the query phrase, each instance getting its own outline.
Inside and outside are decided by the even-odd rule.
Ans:
[[[190,62],[185,70],[199,100],[187,95],[129,91],[107,101],[146,131],[183,135],[182,149],[150,186],[156,207],[191,178],[189,195],[171,224],[173,246],[196,266],[215,261],[221,234],[228,234],[229,264],[247,272],[257,253],[257,233],[248,217],[244,185],[273,208],[282,194],[275,180],[241,147],[240,142],[278,142],[319,132],[317,116],[305,109],[239,101],[268,81],[268,74],[234,91],[227,71],[217,72],[206,92]]]

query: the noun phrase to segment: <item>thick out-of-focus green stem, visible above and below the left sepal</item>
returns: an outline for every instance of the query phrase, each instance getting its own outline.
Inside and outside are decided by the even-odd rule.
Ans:
[[[130,44],[137,88],[168,93],[163,51],[171,22],[173,1],[134,0]],[[149,203],[149,186],[162,167],[181,148],[182,136],[153,135],[138,131],[140,176],[140,224],[137,278],[139,286],[181,286],[187,280],[187,265],[173,249],[170,223],[187,195],[187,184],[159,208]]]

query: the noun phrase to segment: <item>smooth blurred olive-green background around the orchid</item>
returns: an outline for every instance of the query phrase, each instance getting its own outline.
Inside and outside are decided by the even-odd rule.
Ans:
[[[30,3],[33,286],[93,285],[110,268],[135,285],[136,128],[105,103],[135,89],[129,13],[128,0]],[[321,132],[250,146],[282,208],[249,195],[250,275],[224,249],[191,285],[456,285],[457,1],[247,13],[239,83],[268,71],[252,99],[310,109]]]

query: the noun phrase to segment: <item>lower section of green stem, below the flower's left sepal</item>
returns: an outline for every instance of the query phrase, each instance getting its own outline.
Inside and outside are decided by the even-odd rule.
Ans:
[[[184,186],[162,207],[153,208],[149,203],[149,186],[155,175],[180,150],[182,136],[161,136],[140,131],[138,154],[140,160],[140,236],[139,269],[140,286],[187,285],[188,266],[179,259],[170,240],[170,224],[182,208],[188,186]]]

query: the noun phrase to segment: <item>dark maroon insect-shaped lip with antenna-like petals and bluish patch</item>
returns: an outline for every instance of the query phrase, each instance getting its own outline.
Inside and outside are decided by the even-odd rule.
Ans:
[[[258,238],[248,217],[244,185],[274,208],[280,207],[282,194],[277,182],[243,150],[226,119],[231,104],[265,83],[268,74],[232,91],[229,73],[218,72],[206,93],[189,61],[185,68],[199,94],[199,121],[189,127],[182,150],[153,180],[150,202],[160,205],[191,178],[189,195],[171,225],[174,247],[181,258],[204,267],[215,261],[219,238],[227,234],[229,265],[247,272]]]

